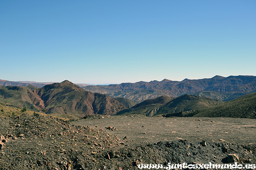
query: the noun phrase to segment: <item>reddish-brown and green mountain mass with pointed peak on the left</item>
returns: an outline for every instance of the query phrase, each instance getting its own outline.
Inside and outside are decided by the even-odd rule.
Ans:
[[[49,114],[112,115],[126,109],[117,100],[105,94],[84,91],[67,80],[36,88],[32,85],[0,86],[0,102]]]

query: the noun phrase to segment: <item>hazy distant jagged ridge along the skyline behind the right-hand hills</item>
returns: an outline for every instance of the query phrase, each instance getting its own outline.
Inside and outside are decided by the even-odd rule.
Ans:
[[[211,99],[229,101],[245,94],[256,92],[256,76],[215,76],[209,79],[184,79],[183,81],[162,81],[121,83],[118,85],[86,86],[84,90],[124,97],[140,103],[159,96],[178,97],[192,94]]]

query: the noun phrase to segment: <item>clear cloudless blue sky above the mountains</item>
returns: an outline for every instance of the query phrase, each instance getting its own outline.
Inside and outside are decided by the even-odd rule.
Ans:
[[[0,79],[256,75],[256,0],[1,0]]]

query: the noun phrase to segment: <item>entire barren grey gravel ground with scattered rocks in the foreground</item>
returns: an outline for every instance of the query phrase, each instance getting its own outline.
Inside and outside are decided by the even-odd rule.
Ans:
[[[137,170],[138,164],[256,164],[256,120],[42,114],[0,118],[1,170]],[[233,154],[228,156],[229,154]],[[238,159],[236,158],[236,156]]]

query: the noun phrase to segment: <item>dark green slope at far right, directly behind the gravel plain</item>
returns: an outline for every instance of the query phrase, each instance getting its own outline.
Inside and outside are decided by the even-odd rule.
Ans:
[[[256,93],[196,111],[197,117],[239,117],[256,119]]]

